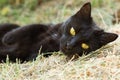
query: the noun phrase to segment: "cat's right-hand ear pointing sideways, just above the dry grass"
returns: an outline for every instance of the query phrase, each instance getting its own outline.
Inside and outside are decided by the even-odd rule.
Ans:
[[[103,32],[103,33],[99,36],[99,39],[100,39],[100,43],[101,43],[102,45],[106,45],[107,43],[116,40],[117,37],[118,37],[117,34]]]

